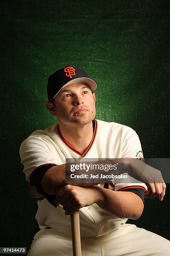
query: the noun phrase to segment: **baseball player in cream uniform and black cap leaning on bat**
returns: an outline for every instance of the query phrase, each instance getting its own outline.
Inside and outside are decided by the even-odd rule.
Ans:
[[[132,128],[95,119],[96,87],[79,68],[68,66],[50,75],[45,105],[58,124],[34,131],[21,143],[23,172],[37,200],[40,227],[28,256],[72,255],[69,215],[77,210],[82,256],[168,256],[170,241],[126,224],[142,214],[144,192],[145,197],[159,195],[163,200],[164,182],[148,183],[149,191],[146,184],[132,182],[128,173],[127,179],[98,185],[65,182],[65,159],[116,159],[122,170],[133,163],[136,173],[136,162],[144,164],[133,161],[142,157],[142,148]]]

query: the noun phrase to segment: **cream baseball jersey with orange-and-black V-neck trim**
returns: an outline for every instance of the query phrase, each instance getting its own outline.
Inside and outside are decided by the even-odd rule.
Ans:
[[[30,182],[30,195],[37,200],[38,210],[36,220],[40,229],[50,227],[53,230],[71,235],[70,216],[65,215],[62,205],[54,207],[37,191],[32,177],[50,164],[65,164],[66,158],[77,159],[105,159],[105,158],[139,158],[142,156],[140,140],[136,132],[119,123],[108,123],[93,120],[93,138],[85,152],[73,148],[60,133],[58,125],[52,125],[44,130],[34,131],[20,146],[21,163],[26,180]],[[129,176],[128,176],[129,177]],[[104,184],[100,184],[104,187]],[[108,189],[122,191],[127,188],[142,188],[147,191],[143,183],[125,182],[112,179]],[[80,233],[85,236],[101,236],[111,230],[119,229],[127,219],[116,218],[102,210],[97,204],[80,209]]]

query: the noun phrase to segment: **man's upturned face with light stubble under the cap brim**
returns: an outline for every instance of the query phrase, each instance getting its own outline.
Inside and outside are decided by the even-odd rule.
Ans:
[[[95,94],[84,83],[68,84],[55,96],[55,113],[66,125],[90,123],[96,115]]]

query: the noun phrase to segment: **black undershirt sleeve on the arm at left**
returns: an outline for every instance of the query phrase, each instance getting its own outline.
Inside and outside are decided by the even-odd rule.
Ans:
[[[31,179],[30,179],[30,186],[35,186],[37,187],[37,192],[40,195],[44,195],[45,198],[47,199],[48,202],[50,202],[50,204],[52,204],[54,207],[57,207],[59,204],[55,204],[54,200],[55,200],[55,195],[49,195],[47,194],[42,186],[41,186],[41,181],[42,178],[45,174],[45,172],[47,172],[48,169],[50,169],[52,166],[56,166],[57,164],[43,164],[39,167],[37,167],[34,172],[31,175]]]

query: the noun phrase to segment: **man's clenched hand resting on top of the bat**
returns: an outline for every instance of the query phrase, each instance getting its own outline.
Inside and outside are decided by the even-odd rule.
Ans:
[[[66,211],[66,215],[70,215],[84,206],[92,205],[100,201],[102,193],[96,187],[78,187],[65,185],[56,194],[55,203],[60,203]]]

